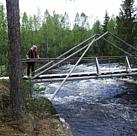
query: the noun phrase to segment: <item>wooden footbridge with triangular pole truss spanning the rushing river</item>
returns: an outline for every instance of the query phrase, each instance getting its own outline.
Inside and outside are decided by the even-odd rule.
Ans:
[[[130,53],[119,47],[118,45],[114,44],[113,42],[107,40],[105,38],[106,35],[110,35],[116,40],[120,41],[122,44],[127,46],[128,48],[130,47],[134,52]],[[97,41],[100,39],[104,40],[107,42],[110,46],[113,46],[120,50],[124,55],[123,56],[106,56],[106,57],[90,57],[87,58],[85,57],[86,53],[89,51],[89,49],[95,45]],[[81,53],[81,56],[79,58],[74,58],[74,56],[78,53]],[[110,78],[110,77],[126,77],[126,76],[137,76],[137,66],[135,65],[137,63],[137,48],[134,46],[128,44],[127,42],[123,41],[116,35],[112,34],[111,32],[106,32],[102,35],[94,35],[85,41],[81,42],[80,44],[74,46],[73,48],[69,49],[65,53],[61,54],[57,58],[40,58],[40,59],[31,59],[31,60],[26,60],[23,59],[23,62],[46,62],[43,66],[35,70],[35,76],[31,77],[31,80],[33,82],[51,82],[51,81],[62,81],[59,88],[55,91],[53,94],[52,99],[55,97],[57,92],[61,89],[63,84],[67,80],[83,80],[83,79],[97,79],[97,78]],[[100,65],[102,64],[102,60],[110,60],[111,59],[116,59],[119,62],[122,62],[120,60],[124,60],[125,67],[123,66],[122,69],[111,69],[111,70],[103,70],[100,68]],[[49,74],[49,71],[61,64],[63,64],[66,61],[74,61],[76,60],[75,64],[72,66],[72,69],[68,73],[56,73],[56,74]],[[83,60],[90,60],[94,62],[94,65],[96,67],[95,71],[88,71],[88,72],[75,72],[74,70],[76,67],[83,61]],[[132,60],[132,64],[131,61]],[[48,61],[48,62],[47,62]],[[109,61],[110,62],[110,61]],[[115,63],[117,63],[115,61]],[[134,66],[134,67],[133,67]],[[23,77],[24,79],[30,79],[26,76]]]

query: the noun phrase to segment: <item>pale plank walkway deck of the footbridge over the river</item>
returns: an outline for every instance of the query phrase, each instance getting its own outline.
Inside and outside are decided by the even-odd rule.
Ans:
[[[33,79],[24,76],[24,80],[32,80],[33,82],[51,82],[51,81],[62,81],[68,73],[63,74],[45,74]],[[72,73],[68,80],[84,80],[84,79],[97,79],[97,78],[111,78],[111,77],[125,77],[125,76],[137,76],[137,68],[131,69],[128,72],[125,69],[113,70],[113,71],[101,71],[98,75],[96,72],[79,72]],[[0,77],[0,80],[8,80],[9,77]]]

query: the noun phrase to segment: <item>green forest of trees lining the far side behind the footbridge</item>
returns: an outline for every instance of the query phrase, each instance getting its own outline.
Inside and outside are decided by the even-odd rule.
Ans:
[[[45,10],[44,15],[27,15],[24,12],[20,15],[21,31],[21,53],[25,58],[28,49],[36,44],[40,57],[54,58],[73,46],[79,44],[94,34],[103,34],[106,31],[112,32],[127,43],[137,47],[137,7],[134,0],[125,0],[121,3],[119,16],[109,17],[109,11],[104,14],[104,21],[92,20],[88,22],[85,13],[77,13],[73,25],[70,24],[68,13],[57,14],[55,11],[50,15]],[[119,47],[130,52],[130,49],[117,41],[114,37],[107,36],[106,39],[112,41]],[[92,47],[88,56],[108,56],[119,55],[119,51],[108,43],[100,40]],[[6,11],[0,4],[0,64],[7,64],[8,56],[8,27]]]

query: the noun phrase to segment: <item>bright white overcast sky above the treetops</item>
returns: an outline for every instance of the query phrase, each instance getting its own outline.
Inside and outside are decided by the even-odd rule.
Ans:
[[[0,0],[5,5],[6,0]],[[58,14],[64,14],[65,11],[69,14],[71,21],[74,21],[76,13],[84,12],[90,20],[104,20],[105,11],[108,15],[116,16],[119,14],[120,4],[122,0],[20,0],[20,12],[27,12],[29,15],[37,14],[38,9],[43,15],[48,9],[52,15],[55,10]],[[137,5],[137,0],[135,0]]]

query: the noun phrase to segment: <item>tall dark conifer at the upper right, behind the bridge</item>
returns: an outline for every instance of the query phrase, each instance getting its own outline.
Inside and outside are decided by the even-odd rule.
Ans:
[[[119,16],[117,16],[117,35],[130,44],[134,44],[137,29],[135,29],[136,10],[134,7],[134,0],[122,1]],[[120,44],[120,43],[119,43]],[[127,46],[120,44],[120,46],[130,51]]]

